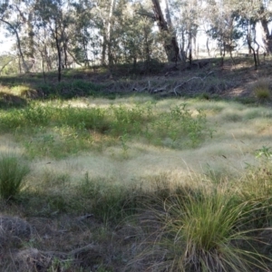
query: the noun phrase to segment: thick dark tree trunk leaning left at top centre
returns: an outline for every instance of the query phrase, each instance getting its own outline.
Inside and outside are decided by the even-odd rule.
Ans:
[[[158,26],[160,28],[160,33],[164,36],[164,50],[167,54],[167,58],[169,62],[177,62],[179,57],[179,44],[177,42],[176,34],[172,33],[170,27],[165,21],[163,14],[160,8],[159,0],[152,0],[154,15]]]

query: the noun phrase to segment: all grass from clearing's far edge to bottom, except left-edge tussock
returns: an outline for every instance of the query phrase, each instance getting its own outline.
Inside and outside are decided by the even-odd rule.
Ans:
[[[75,271],[266,271],[271,114],[144,96],[2,109],[0,151],[24,152],[31,172],[0,207],[34,224],[40,250],[102,246],[92,263],[92,251],[71,261]]]

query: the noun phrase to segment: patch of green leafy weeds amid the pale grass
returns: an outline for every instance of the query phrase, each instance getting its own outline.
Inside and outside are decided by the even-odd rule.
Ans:
[[[127,152],[128,139],[171,148],[196,147],[211,135],[204,112],[193,113],[186,104],[159,114],[155,106],[144,104],[111,105],[108,108],[86,106],[76,108],[60,102],[41,105],[31,103],[24,109],[2,112],[2,131],[14,131],[29,139],[24,147],[31,154],[62,158],[71,153],[100,146],[100,142],[120,142]],[[182,138],[182,141],[180,139]]]

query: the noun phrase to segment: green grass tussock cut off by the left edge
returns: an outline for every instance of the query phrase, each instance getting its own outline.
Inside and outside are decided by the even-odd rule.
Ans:
[[[0,196],[13,199],[22,189],[24,177],[29,173],[28,165],[14,154],[0,156]]]

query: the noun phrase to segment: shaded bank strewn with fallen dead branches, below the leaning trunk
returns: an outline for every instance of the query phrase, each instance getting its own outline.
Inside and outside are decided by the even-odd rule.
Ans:
[[[151,93],[159,97],[207,95],[213,98],[248,98],[252,93],[252,83],[260,78],[269,78],[272,70],[270,58],[261,59],[257,69],[252,57],[221,59],[202,59],[192,65],[153,64],[151,73],[143,68],[135,72],[130,67],[119,67],[110,72],[99,70],[74,74],[73,77],[102,83],[105,92],[115,94]]]

